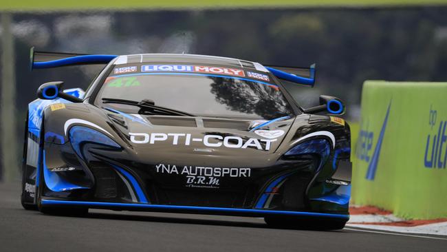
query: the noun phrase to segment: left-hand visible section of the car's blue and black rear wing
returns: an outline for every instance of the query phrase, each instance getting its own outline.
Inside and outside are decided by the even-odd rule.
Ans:
[[[30,67],[33,69],[62,67],[65,65],[107,64],[117,55],[74,54],[65,52],[36,52],[30,50]]]

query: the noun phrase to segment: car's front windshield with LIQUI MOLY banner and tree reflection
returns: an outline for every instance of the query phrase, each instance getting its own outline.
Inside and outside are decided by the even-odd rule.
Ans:
[[[102,107],[134,109],[134,113],[139,111],[138,107],[103,104],[102,98],[137,102],[146,99],[157,106],[196,116],[270,120],[293,114],[279,87],[265,73],[204,66],[197,69],[208,72],[199,73],[194,67],[144,64],[116,66],[102,84],[96,103]],[[166,70],[171,72],[157,72]]]

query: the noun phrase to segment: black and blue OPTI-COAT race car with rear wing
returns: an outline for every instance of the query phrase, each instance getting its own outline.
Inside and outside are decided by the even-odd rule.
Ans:
[[[32,69],[85,64],[105,65],[85,92],[49,82],[29,104],[25,209],[252,216],[310,229],[349,220],[345,106],[322,95],[303,108],[285,88],[313,86],[314,65],[292,74],[219,56],[31,52]]]

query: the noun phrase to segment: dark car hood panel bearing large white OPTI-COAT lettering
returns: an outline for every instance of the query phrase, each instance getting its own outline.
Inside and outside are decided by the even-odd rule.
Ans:
[[[248,157],[273,154],[294,118],[241,120],[187,116],[142,116],[108,112],[120,137],[140,154]],[[257,126],[265,124],[262,129]]]

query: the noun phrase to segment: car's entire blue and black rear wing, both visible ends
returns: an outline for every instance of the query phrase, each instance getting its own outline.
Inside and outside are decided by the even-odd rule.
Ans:
[[[30,51],[30,68],[43,69],[67,65],[107,64],[118,55],[109,54],[74,54],[65,52]],[[293,83],[314,86],[315,64],[310,67],[265,66],[277,78]]]

